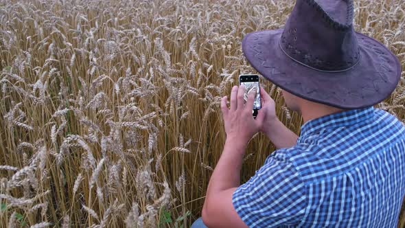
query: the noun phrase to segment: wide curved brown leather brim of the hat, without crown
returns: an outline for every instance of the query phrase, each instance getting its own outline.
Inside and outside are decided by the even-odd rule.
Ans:
[[[400,80],[399,60],[369,36],[356,32],[361,56],[357,65],[347,71],[327,72],[286,56],[279,46],[282,32],[280,29],[246,34],[242,51],[264,78],[301,98],[340,109],[358,109],[387,98]]]

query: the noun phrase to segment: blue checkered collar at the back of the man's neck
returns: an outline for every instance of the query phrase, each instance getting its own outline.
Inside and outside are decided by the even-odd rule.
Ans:
[[[300,137],[305,137],[305,135],[316,133],[322,128],[334,128],[339,126],[353,125],[359,122],[367,122],[372,119],[373,115],[373,106],[323,115],[316,119],[310,119],[305,122],[305,124],[301,126]]]

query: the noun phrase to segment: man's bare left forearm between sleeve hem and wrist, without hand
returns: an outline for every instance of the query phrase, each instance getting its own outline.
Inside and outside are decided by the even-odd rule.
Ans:
[[[232,194],[240,185],[240,170],[246,142],[227,138],[216,165],[203,206],[203,222],[208,227],[247,227],[232,203]]]

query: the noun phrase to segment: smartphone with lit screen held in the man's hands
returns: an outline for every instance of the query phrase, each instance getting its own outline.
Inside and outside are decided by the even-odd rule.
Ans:
[[[262,109],[262,102],[260,102],[260,90],[259,90],[259,76],[257,74],[242,74],[239,76],[239,84],[244,84],[245,91],[244,91],[244,102],[248,100],[248,93],[252,91],[252,89],[256,89],[256,96],[255,101],[253,102],[253,117],[256,118],[257,111]]]

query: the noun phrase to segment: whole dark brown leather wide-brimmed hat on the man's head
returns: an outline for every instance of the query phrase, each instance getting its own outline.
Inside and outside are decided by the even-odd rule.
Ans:
[[[279,30],[246,34],[244,56],[273,84],[306,100],[358,109],[387,98],[401,65],[382,43],[354,31],[351,0],[297,0]]]

